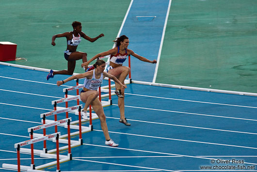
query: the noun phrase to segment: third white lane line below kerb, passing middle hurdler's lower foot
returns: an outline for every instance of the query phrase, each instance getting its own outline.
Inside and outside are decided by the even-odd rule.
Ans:
[[[106,117],[106,118],[110,118],[110,119],[120,119],[120,118],[114,118],[114,117]],[[215,131],[225,131],[225,132],[233,132],[233,133],[242,133],[242,134],[254,134],[254,135],[257,135],[257,133],[249,133],[249,132],[242,132],[242,131],[233,131],[233,130],[224,130],[224,129],[215,129],[215,128],[205,128],[205,127],[189,126],[189,125],[176,125],[176,124],[167,124],[167,123],[156,123],[156,122],[150,122],[150,121],[131,120],[131,119],[127,119],[127,120],[128,120],[128,121],[142,122],[142,123],[158,124],[158,125],[181,126],[181,127],[189,127],[189,128],[197,128],[197,129],[207,129],[207,130],[215,130]]]

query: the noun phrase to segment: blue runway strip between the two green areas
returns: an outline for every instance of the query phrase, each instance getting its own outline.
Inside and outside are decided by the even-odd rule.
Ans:
[[[149,60],[157,60],[168,5],[169,0],[133,1],[120,34],[128,36],[129,49]],[[155,66],[132,57],[131,75],[134,80],[152,82]]]

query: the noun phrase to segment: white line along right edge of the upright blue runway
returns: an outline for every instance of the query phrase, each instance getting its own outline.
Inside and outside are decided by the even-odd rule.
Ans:
[[[164,26],[163,26],[163,30],[162,30],[161,44],[160,44],[160,47],[159,47],[157,63],[156,63],[156,66],[155,66],[154,77],[153,77],[153,81],[152,81],[153,83],[155,83],[156,77],[157,77],[157,73],[158,73],[158,67],[159,67],[159,63],[160,63],[160,59],[161,59],[161,49],[162,49],[163,40],[164,40],[164,36],[165,36],[166,26],[167,26],[167,23],[168,23],[168,17],[169,17],[169,13],[170,13],[171,1],[172,0],[169,0],[169,5],[168,5],[167,13],[166,13],[166,18],[165,18],[165,22],[164,22]]]

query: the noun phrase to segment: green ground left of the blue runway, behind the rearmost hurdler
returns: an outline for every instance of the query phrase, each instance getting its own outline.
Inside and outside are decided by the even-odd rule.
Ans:
[[[96,37],[105,36],[91,43],[82,38],[78,51],[88,54],[88,59],[113,46],[127,12],[130,0],[6,0],[0,5],[1,41],[17,44],[16,57],[27,62],[11,61],[27,66],[54,70],[67,69],[64,59],[66,38],[56,38],[56,46],[51,45],[54,34],[73,31],[73,21],[82,23],[82,31]],[[77,61],[75,71],[82,73],[82,60]]]

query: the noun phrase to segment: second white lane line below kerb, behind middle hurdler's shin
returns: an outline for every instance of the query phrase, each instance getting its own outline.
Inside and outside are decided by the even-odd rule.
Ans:
[[[116,105],[116,104],[112,104],[112,105],[118,106],[118,105]],[[208,114],[181,112],[181,111],[174,111],[174,110],[142,108],[142,107],[135,107],[135,106],[128,106],[128,105],[125,105],[125,107],[128,107],[128,108],[137,108],[137,109],[147,109],[147,110],[158,110],[158,111],[174,112],[174,113],[184,113],[184,114],[190,114],[190,115],[211,116],[211,117],[218,117],[218,118],[229,118],[229,119],[237,119],[237,120],[257,121],[256,119],[236,118],[236,117],[227,117],[227,116],[218,116],[218,115],[208,115]]]

